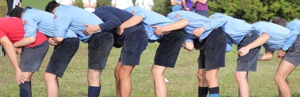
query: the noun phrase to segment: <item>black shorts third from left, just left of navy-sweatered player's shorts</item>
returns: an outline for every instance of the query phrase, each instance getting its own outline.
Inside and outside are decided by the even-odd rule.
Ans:
[[[88,43],[88,69],[105,68],[108,55],[113,45],[113,35],[109,31],[92,34]]]

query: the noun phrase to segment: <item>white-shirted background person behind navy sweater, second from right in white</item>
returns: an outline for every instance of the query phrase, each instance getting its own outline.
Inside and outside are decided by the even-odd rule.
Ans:
[[[129,6],[133,6],[132,0],[111,0],[111,6],[126,9]]]

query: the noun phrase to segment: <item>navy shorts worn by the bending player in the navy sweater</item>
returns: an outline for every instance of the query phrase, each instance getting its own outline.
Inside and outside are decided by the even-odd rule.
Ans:
[[[148,36],[144,28],[127,34],[121,41],[122,50],[118,62],[121,65],[138,65],[141,53],[148,45]]]

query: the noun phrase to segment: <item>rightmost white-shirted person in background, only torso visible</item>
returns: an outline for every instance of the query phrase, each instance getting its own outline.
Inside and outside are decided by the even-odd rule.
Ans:
[[[152,10],[153,8],[153,0],[135,0],[135,6],[143,7],[148,10]]]

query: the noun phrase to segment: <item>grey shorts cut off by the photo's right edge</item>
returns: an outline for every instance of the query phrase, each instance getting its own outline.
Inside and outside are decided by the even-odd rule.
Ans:
[[[296,41],[292,44],[292,46],[287,50],[283,60],[295,65],[299,66],[300,64],[300,36],[297,37]]]

